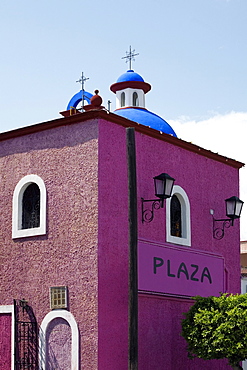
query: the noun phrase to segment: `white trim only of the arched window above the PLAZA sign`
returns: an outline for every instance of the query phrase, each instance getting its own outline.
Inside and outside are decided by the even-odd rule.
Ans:
[[[173,244],[179,244],[184,246],[191,246],[191,220],[190,220],[190,202],[189,198],[184,191],[178,185],[173,186],[172,195],[176,195],[181,204],[181,215],[182,215],[182,237],[171,235],[170,228],[170,204],[171,198],[166,200],[166,241]]]

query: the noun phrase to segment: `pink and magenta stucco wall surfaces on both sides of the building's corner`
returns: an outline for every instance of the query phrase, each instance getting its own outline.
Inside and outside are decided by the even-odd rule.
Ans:
[[[224,199],[238,194],[238,170],[140,132],[136,150],[139,238],[169,244],[165,208],[142,224],[140,200],[154,197],[152,178],[167,172],[190,200],[192,246],[182,248],[223,256],[227,290],[239,292],[239,223],[215,240],[209,212],[224,217]],[[40,325],[50,311],[49,288],[66,285],[68,309],[79,327],[81,370],[126,370],[125,128],[94,119],[8,139],[0,145],[0,166],[0,305],[25,298]],[[13,192],[28,174],[40,176],[47,189],[47,234],[12,240]],[[224,361],[187,359],[180,320],[190,304],[188,298],[139,295],[140,370],[227,368]],[[59,340],[49,330],[57,350]],[[69,344],[66,348],[69,352]]]

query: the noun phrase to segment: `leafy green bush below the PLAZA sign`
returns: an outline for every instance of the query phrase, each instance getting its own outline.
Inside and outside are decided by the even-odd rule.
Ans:
[[[239,362],[247,358],[247,294],[193,299],[182,320],[189,357],[226,358],[241,369]]]

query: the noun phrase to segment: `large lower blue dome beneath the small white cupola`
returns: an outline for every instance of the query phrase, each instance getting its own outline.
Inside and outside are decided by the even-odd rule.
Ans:
[[[173,131],[169,123],[147,109],[123,108],[115,110],[114,113],[118,116],[140,123],[141,125],[149,126],[155,130],[162,131],[165,134],[177,137],[175,131]]]

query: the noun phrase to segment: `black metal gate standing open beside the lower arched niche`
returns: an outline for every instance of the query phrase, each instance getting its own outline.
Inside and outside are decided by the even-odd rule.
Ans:
[[[38,369],[38,326],[32,308],[23,300],[14,300],[15,370]]]

